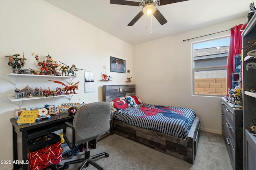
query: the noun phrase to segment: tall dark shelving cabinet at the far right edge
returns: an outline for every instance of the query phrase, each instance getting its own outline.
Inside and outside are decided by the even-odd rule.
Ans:
[[[242,32],[244,170],[256,170],[256,137],[247,130],[254,125],[252,120],[256,119],[256,93],[250,92],[250,89],[256,88],[256,69],[246,69],[246,64],[256,64],[256,57],[247,55],[249,51],[256,50],[256,45],[246,49],[248,45],[254,43],[256,43],[256,13]]]

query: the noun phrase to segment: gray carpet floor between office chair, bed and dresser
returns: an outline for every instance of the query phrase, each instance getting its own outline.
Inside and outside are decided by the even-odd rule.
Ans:
[[[98,141],[96,149],[91,150],[91,155],[104,151],[110,156],[95,160],[105,170],[232,170],[222,136],[204,131],[201,131],[194,165],[115,134]],[[83,154],[81,152],[72,160]],[[60,164],[66,161],[70,159],[63,157]],[[80,164],[70,165],[69,169],[76,170],[79,166]],[[89,164],[84,170],[96,168]]]

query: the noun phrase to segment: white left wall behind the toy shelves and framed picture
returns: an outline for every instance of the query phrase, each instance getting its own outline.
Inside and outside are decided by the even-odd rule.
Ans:
[[[34,52],[40,56],[40,61],[46,60],[46,55],[53,60],[68,65],[75,64],[77,68],[94,72],[95,92],[84,93],[84,71],[79,70],[73,82],[80,81],[78,94],[70,102],[102,101],[102,86],[111,84],[126,84],[126,74],[110,72],[110,56],[126,60],[126,70],[132,70],[132,45],[80,20],[42,0],[0,0],[0,160],[12,160],[12,124],[14,109],[19,108],[19,102],[11,102],[8,97],[14,95],[14,77],[8,76],[11,67],[4,55],[25,54],[24,68],[39,70]],[[114,79],[109,82],[99,81],[103,66],[107,74]],[[130,76],[133,77],[132,72]],[[51,78],[66,82],[64,79]],[[50,78],[18,77],[17,87],[26,85],[31,88],[56,88],[60,86],[48,82]],[[38,109],[45,104],[59,105],[68,103],[66,97],[42,100],[23,101],[22,107]],[[21,147],[21,143],[18,145]],[[0,169],[11,169],[12,165],[0,164]]]

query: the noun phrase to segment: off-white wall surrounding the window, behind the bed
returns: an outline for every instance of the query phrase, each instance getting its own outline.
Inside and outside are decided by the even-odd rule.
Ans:
[[[182,106],[201,116],[201,128],[221,134],[221,99],[192,96],[192,42],[229,35],[224,31],[244,23],[246,18],[188,31],[133,46],[136,94],[145,103]]]

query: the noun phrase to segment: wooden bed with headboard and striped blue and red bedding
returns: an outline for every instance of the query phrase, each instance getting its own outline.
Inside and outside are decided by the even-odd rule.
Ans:
[[[136,96],[134,84],[103,86],[103,101],[113,104],[113,101],[124,100],[124,96]],[[192,109],[140,101],[137,107],[120,108],[112,116],[115,134],[194,164],[200,116]]]

